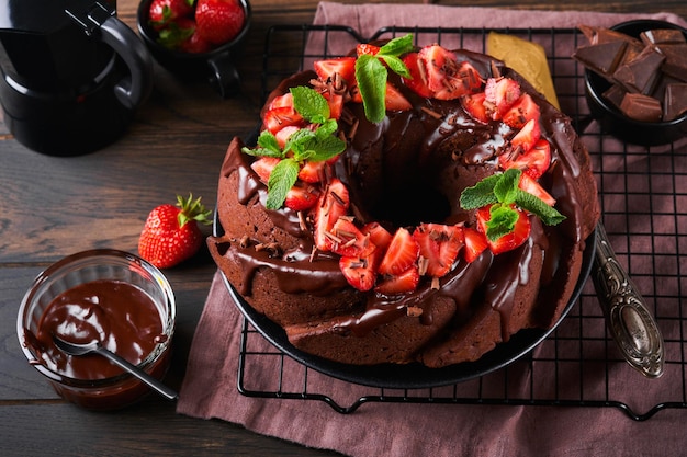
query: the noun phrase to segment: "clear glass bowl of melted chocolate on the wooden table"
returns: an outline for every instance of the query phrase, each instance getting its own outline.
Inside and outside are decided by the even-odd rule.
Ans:
[[[64,258],[36,276],[20,306],[16,333],[29,363],[59,396],[89,410],[113,410],[150,388],[99,354],[67,355],[53,336],[98,341],[162,379],[174,323],[174,296],[158,269],[137,255],[99,249]]]

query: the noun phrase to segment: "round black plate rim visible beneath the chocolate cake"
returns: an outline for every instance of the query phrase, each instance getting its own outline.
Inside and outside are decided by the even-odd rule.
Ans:
[[[219,236],[224,232],[216,212],[213,232],[215,236]],[[417,363],[407,365],[349,365],[331,362],[326,358],[304,353],[289,342],[286,332],[281,327],[256,311],[234,288],[224,274],[222,277],[224,278],[224,283],[226,284],[229,294],[234,298],[234,302],[246,319],[248,319],[248,321],[252,324],[252,327],[280,351],[303,365],[334,378],[363,386],[386,389],[421,389],[448,386],[463,382],[478,376],[484,376],[487,373],[503,368],[533,350],[539,343],[549,336],[551,332],[553,332],[579,297],[582,288],[584,287],[592,270],[596,249],[595,241],[596,231],[594,231],[585,242],[579,278],[577,279],[577,284],[575,285],[570,302],[563,310],[563,313],[555,325],[548,330],[521,330],[513,335],[508,342],[496,345],[494,350],[484,354],[475,362],[465,362],[443,368],[429,368]]]

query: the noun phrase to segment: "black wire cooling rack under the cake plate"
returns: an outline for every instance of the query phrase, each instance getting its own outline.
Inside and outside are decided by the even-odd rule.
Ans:
[[[687,287],[687,138],[646,148],[624,145],[600,132],[584,99],[583,68],[570,57],[576,46],[586,43],[576,30],[494,32],[536,42],[545,50],[561,110],[573,118],[589,148],[613,249],[663,332],[664,375],[644,379],[622,361],[588,281],[564,321],[530,354],[480,378],[440,388],[390,390],[350,385],[336,390],[348,391],[348,396],[335,398],[333,386],[344,381],[316,373],[266,344],[245,320],[238,369],[243,395],[323,401],[340,413],[373,402],[511,404],[617,408],[644,421],[665,409],[687,408],[687,304],[683,302]],[[264,47],[263,96],[294,71],[312,68],[313,59],[336,56],[331,49],[350,49],[354,43],[406,33],[413,33],[418,45],[437,42],[477,52],[485,50],[488,34],[471,28],[388,27],[363,37],[345,26],[274,26]],[[255,369],[258,366],[260,369]],[[264,366],[270,368],[266,372]],[[323,377],[327,378],[324,382]],[[624,388],[628,384],[632,391]]]

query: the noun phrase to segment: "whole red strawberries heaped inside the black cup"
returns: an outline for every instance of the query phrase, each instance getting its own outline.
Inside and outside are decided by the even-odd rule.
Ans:
[[[233,41],[244,27],[239,0],[153,0],[148,23],[162,46],[207,53]]]

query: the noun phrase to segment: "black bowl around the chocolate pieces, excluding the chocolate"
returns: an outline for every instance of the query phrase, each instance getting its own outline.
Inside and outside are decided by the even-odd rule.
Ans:
[[[679,30],[687,37],[687,30],[664,21],[635,20],[611,27],[635,38],[644,31],[658,28]],[[665,145],[687,135],[687,113],[667,122],[641,122],[629,118],[602,96],[610,88],[610,82],[588,69],[585,69],[584,78],[589,111],[598,119],[604,132],[626,142],[642,146]]]

